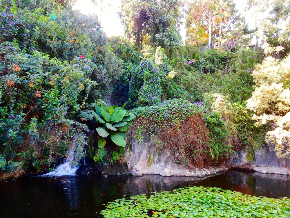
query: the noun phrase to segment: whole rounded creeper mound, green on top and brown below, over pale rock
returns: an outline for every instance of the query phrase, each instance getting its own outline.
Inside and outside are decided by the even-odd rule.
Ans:
[[[228,130],[222,116],[202,102],[172,99],[131,112],[137,116],[132,134],[139,143],[149,140],[188,167],[213,165],[233,152],[226,143]]]

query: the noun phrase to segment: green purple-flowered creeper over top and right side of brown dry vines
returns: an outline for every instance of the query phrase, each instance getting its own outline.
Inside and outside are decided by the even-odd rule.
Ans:
[[[184,99],[172,99],[150,107],[140,107],[131,110],[136,115],[137,126],[143,126],[143,131],[158,132],[171,126],[178,126],[198,113],[204,119],[204,125],[209,131],[209,150],[206,151],[213,162],[218,162],[232,152],[231,144],[226,144],[227,128],[222,117],[217,112],[211,112],[203,102],[191,103]],[[138,118],[145,120],[138,121]],[[148,121],[150,120],[150,125]],[[186,134],[186,133],[184,133]]]

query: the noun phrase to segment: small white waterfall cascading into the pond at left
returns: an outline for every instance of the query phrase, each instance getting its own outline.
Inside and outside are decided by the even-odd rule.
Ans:
[[[75,151],[75,148],[72,147],[68,149],[68,152],[66,153],[66,160],[59,165],[57,168],[55,168],[53,171],[43,174],[41,176],[73,176],[76,175],[76,171],[79,168],[79,165],[73,164],[73,160],[77,156],[77,153]]]

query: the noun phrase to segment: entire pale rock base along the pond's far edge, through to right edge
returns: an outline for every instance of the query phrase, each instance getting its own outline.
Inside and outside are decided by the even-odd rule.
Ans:
[[[277,158],[273,147],[257,149],[254,157],[251,152],[246,150],[239,151],[223,166],[187,169],[171,160],[169,154],[165,151],[157,151],[149,143],[138,144],[132,138],[131,146],[128,146],[124,159],[128,173],[133,176],[159,174],[161,176],[204,177],[230,168],[290,175],[290,168],[288,168],[290,160]]]

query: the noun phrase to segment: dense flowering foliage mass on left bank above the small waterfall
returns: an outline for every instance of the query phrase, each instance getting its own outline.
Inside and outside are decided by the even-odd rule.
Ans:
[[[1,1],[0,10],[0,175],[47,168],[69,147],[81,158],[79,112],[106,96],[122,60],[97,17],[67,1]]]

